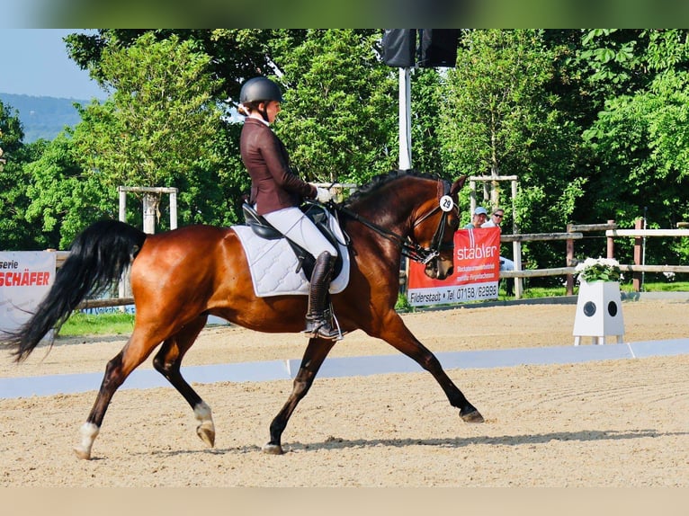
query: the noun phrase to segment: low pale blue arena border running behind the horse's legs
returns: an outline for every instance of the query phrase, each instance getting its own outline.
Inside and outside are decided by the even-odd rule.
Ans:
[[[506,368],[520,365],[580,363],[594,360],[631,360],[654,356],[689,353],[689,339],[616,343],[603,345],[511,348],[504,350],[449,351],[435,353],[450,369]],[[187,381],[199,384],[216,382],[256,382],[294,378],[301,360],[272,360],[188,366],[183,368]],[[374,355],[367,357],[331,357],[318,372],[318,378],[343,378],[390,373],[421,372],[414,360],[405,355]],[[0,399],[53,396],[96,391],[103,373],[49,375],[24,378],[0,378]],[[121,389],[169,387],[170,384],[154,369],[137,369]]]

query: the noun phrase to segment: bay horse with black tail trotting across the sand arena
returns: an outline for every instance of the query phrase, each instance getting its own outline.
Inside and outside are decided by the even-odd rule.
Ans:
[[[425,263],[431,278],[444,280],[452,274],[453,234],[459,227],[457,192],[465,180],[463,176],[451,183],[414,171],[393,171],[377,176],[344,203],[333,204],[350,239],[351,270],[347,287],[331,302],[343,334],[361,329],[386,341],[433,375],[463,421],[482,423],[479,411],[395,311],[403,254]],[[197,434],[213,447],[210,406],[182,376],[184,353],[209,315],[259,332],[299,333],[307,297],[255,297],[244,250],[231,227],[197,225],[147,235],[123,222],[104,220],[76,237],[35,314],[4,337],[15,360],[26,359],[51,328],[57,334],[88,294],[103,292],[128,266],[136,307],[134,329],[107,363],[94,406],[80,428],[76,455],[91,458],[115,391],[161,343],[153,365],[191,405],[199,422]],[[335,344],[309,339],[291,394],[270,425],[264,452],[283,453],[282,432]]]

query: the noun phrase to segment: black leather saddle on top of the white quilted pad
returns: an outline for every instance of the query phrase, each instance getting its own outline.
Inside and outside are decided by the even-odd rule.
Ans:
[[[333,233],[327,224],[328,218],[330,217],[330,212],[328,209],[317,202],[306,200],[301,206],[301,210],[304,214],[313,222],[318,230],[327,238],[336,249],[339,248],[338,244],[347,245],[346,243],[339,243],[337,236]],[[250,227],[256,236],[260,236],[266,240],[277,240],[279,238],[284,238],[290,245],[292,251],[297,256],[298,265],[295,272],[304,271],[304,275],[307,279],[311,280],[311,275],[313,274],[313,268],[316,264],[316,257],[310,254],[309,251],[304,249],[301,245],[293,242],[287,236],[282,235],[282,233],[273,227],[270,222],[268,222],[261,215],[256,213],[253,206],[248,203],[242,205],[242,211],[244,212],[244,219],[246,226]],[[335,262],[335,269],[333,270],[333,278],[342,271],[343,258],[341,254],[337,254],[337,259]]]

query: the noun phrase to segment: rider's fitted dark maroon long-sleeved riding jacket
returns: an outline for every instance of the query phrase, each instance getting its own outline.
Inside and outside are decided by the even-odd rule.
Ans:
[[[239,147],[251,176],[250,202],[259,215],[299,206],[303,198],[316,198],[316,187],[292,172],[287,149],[261,120],[246,117]]]

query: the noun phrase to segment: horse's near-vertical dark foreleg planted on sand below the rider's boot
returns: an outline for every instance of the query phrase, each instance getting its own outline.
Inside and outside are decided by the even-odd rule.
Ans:
[[[333,349],[336,341],[326,339],[309,339],[309,345],[304,351],[301,365],[297,376],[294,377],[292,391],[281,411],[273,419],[270,432],[271,440],[264,445],[264,453],[281,455],[282,450],[282,431],[287,427],[292,412],[299,404],[301,399],[307,395],[309,388],[313,384],[318,369],[326,360],[327,354]]]

